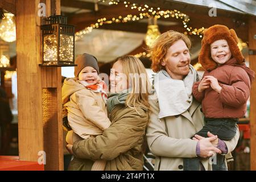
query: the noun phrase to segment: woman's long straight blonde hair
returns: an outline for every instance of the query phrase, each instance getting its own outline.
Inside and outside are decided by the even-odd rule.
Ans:
[[[126,55],[118,57],[117,61],[122,64],[123,73],[128,78],[129,87],[131,88],[130,94],[126,99],[126,106],[136,110],[136,107],[143,104],[149,109],[148,94],[150,93],[151,85],[141,60],[137,57]]]

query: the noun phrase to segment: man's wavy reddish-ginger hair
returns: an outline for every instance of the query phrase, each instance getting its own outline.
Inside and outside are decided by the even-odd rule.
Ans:
[[[150,53],[152,60],[151,69],[154,72],[157,73],[163,69],[160,62],[163,61],[168,49],[177,40],[183,40],[188,49],[191,47],[191,41],[189,40],[187,35],[170,30],[161,34],[158,39],[156,39],[154,44],[150,48],[148,48],[148,52]]]

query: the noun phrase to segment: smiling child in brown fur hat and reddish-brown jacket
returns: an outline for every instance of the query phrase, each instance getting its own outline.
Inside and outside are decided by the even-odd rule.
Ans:
[[[208,137],[210,131],[221,140],[230,140],[236,135],[238,118],[245,115],[255,73],[246,67],[237,43],[236,32],[226,26],[216,24],[204,32],[199,63],[205,72],[202,80],[193,85],[193,96],[201,102],[205,115],[205,126],[196,133],[201,137]],[[226,146],[221,143],[223,146],[218,148],[226,154]],[[225,156],[217,154],[213,170],[227,170],[224,161]],[[185,159],[184,168],[196,170],[199,159]]]

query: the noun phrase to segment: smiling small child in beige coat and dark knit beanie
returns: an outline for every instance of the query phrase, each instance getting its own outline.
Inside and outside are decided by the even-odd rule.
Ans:
[[[96,57],[84,53],[75,60],[75,78],[67,78],[62,88],[62,102],[68,110],[72,131],[67,143],[101,135],[110,126],[106,109],[107,86],[98,77]],[[106,161],[96,160],[92,171],[104,171]]]

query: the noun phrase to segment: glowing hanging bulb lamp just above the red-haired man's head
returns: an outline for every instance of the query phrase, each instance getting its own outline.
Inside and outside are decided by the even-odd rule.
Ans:
[[[161,34],[158,25],[156,23],[156,18],[149,18],[148,19],[148,26],[147,26],[147,33],[145,37],[145,43],[147,46],[152,46],[158,36]]]

